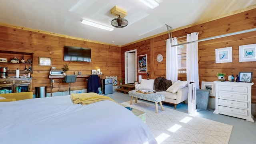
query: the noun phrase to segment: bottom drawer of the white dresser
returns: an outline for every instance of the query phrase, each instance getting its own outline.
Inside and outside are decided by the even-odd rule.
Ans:
[[[248,110],[241,110],[238,108],[229,108],[225,106],[218,106],[218,111],[222,114],[227,114],[231,116],[240,115],[240,116],[248,116]]]

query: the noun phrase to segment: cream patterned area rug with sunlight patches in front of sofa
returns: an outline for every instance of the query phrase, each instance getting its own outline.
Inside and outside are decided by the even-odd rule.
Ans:
[[[148,102],[123,102],[126,106],[146,112],[146,124],[158,144],[228,144],[233,126]]]

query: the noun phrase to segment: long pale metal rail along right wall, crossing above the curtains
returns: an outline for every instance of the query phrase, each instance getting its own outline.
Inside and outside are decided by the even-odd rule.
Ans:
[[[204,38],[202,40],[195,40],[195,41],[186,42],[186,43],[183,43],[183,44],[176,44],[176,45],[173,45],[171,47],[180,46],[180,45],[184,45],[184,44],[190,44],[190,43],[194,43],[194,42],[202,42],[202,41],[206,41],[206,40],[213,40],[213,39],[216,39],[216,38],[223,38],[223,37],[226,37],[226,36],[233,36],[233,35],[236,35],[236,34],[243,34],[243,33],[246,33],[246,32],[253,32],[253,31],[256,31],[256,28],[253,28],[253,29],[250,29],[250,30],[242,30],[240,32],[233,32],[233,33],[230,33],[230,34],[223,34],[223,35],[220,35],[220,36],[213,36],[211,38]],[[170,38],[170,35],[169,35],[169,38]]]

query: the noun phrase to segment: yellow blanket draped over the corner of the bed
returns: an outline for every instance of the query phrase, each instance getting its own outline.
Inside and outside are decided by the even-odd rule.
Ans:
[[[99,102],[102,100],[111,100],[113,102],[116,102],[108,96],[102,96],[94,92],[82,93],[82,94],[71,94],[71,100],[74,104],[82,104],[82,105],[92,104],[94,102]]]

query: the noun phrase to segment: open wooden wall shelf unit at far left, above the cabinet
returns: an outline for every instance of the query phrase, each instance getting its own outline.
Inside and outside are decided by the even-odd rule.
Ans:
[[[25,66],[27,65],[27,68],[31,66],[33,73],[33,53],[28,52],[12,52],[12,51],[4,51],[0,50],[1,58],[7,58],[8,62],[0,62],[1,67],[8,67],[8,74],[15,74],[16,69],[18,68],[20,70],[20,74],[28,74],[28,71],[24,71]],[[20,60],[20,63],[11,63],[11,58],[18,58]],[[21,63],[21,59],[24,57],[25,63]],[[30,62],[28,60],[30,59]]]

